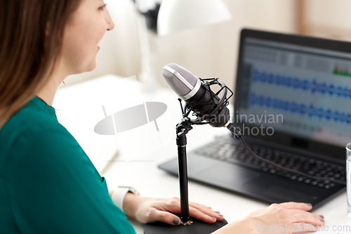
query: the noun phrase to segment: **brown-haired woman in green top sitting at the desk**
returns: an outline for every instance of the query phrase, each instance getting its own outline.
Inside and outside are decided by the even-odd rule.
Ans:
[[[126,193],[117,207],[101,177],[51,107],[69,74],[95,68],[98,42],[114,23],[102,0],[1,0],[1,233],[134,233],[126,216],[179,225],[178,198]],[[312,223],[308,204],[272,204],[216,233],[259,233],[256,226]],[[123,212],[122,212],[123,209]],[[219,212],[190,204],[208,223]],[[292,233],[292,232],[281,232]]]

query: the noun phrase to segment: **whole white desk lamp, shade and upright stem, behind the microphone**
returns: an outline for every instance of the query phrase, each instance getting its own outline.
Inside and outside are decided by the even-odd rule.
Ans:
[[[133,0],[137,11],[143,12],[152,0]],[[142,10],[145,8],[144,10]],[[232,16],[223,0],[163,0],[157,14],[157,35],[164,37],[173,32],[213,25],[230,20]],[[156,57],[150,48],[150,39],[143,15],[138,15],[140,36],[141,72],[138,79],[144,91],[159,86],[154,72]],[[154,18],[156,21],[156,18]]]

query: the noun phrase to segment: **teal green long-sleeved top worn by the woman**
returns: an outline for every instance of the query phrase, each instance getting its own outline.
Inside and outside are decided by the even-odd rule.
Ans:
[[[37,96],[0,130],[0,233],[135,233],[105,178]]]

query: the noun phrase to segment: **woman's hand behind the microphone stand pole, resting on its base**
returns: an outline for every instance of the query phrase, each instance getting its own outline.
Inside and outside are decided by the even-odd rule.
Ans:
[[[123,202],[124,213],[142,223],[162,221],[171,225],[180,224],[180,219],[175,214],[180,214],[180,199],[141,197],[127,193]],[[189,203],[190,216],[206,223],[215,223],[223,220],[219,212],[194,202]]]

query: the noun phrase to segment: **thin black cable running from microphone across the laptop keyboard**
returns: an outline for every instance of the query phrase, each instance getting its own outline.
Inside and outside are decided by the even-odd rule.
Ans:
[[[290,171],[290,172],[292,172],[292,173],[294,173],[294,174],[299,174],[299,175],[301,175],[301,176],[305,176],[305,177],[308,177],[308,178],[313,178],[313,179],[315,179],[315,180],[333,181],[334,183],[340,183],[340,184],[346,185],[346,182],[345,182],[345,181],[340,181],[340,180],[338,180],[338,179],[336,179],[336,178],[311,176],[311,175],[305,174],[305,173],[303,173],[303,172],[301,172],[301,171],[296,171],[296,170],[294,170],[294,169],[289,169],[289,168],[286,168],[286,167],[282,167],[281,165],[276,164],[276,163],[274,163],[274,162],[271,162],[270,160],[266,160],[266,159],[264,159],[264,158],[262,158],[262,157],[256,155],[254,152],[252,152],[252,150],[249,148],[249,146],[246,145],[246,143],[245,143],[245,141],[244,141],[244,138],[242,137],[241,132],[240,132],[239,130],[237,130],[237,128],[234,127],[233,124],[229,124],[229,125],[227,126],[227,129],[229,129],[229,130],[232,132],[232,134],[234,134],[235,136],[237,136],[237,137],[240,139],[241,143],[244,145],[244,148],[246,148],[246,150],[248,150],[248,151],[251,153],[251,155],[253,155],[253,157],[255,157],[257,160],[260,160],[260,161],[263,161],[263,162],[272,164],[274,167],[278,167],[278,168],[283,169],[283,170],[285,170],[285,171]]]

